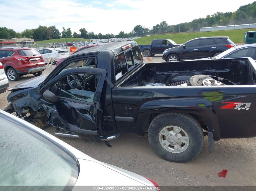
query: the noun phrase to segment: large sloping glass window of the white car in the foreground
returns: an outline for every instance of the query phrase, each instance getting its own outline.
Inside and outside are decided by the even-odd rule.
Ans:
[[[0,185],[42,186],[45,190],[54,189],[50,186],[73,188],[78,166],[71,156],[3,114],[0,123]]]

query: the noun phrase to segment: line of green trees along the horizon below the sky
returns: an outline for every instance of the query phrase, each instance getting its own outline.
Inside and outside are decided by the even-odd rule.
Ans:
[[[142,25],[136,25],[129,33],[120,31],[119,34],[95,34],[92,31],[88,32],[85,28],[81,28],[79,29],[80,34],[77,32],[73,32],[72,34],[70,28],[65,29],[62,27],[62,32],[60,32],[54,25],[50,27],[40,25],[35,29],[26,29],[21,33],[15,32],[14,30],[6,27],[0,27],[0,39],[20,37],[34,38],[35,40],[50,40],[70,37],[88,39],[144,37],[146,35],[159,33],[200,31],[200,27],[247,24],[251,22],[251,18],[256,18],[256,1],[251,4],[241,6],[235,12],[216,12],[212,15],[207,15],[205,18],[193,19],[191,22],[176,25],[168,25],[166,21],[162,21],[160,24],[156,24],[152,28],[145,28],[142,27]]]

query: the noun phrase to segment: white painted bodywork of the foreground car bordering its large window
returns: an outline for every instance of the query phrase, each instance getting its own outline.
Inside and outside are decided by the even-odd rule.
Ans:
[[[110,164],[106,164],[89,157],[88,155],[82,153],[78,149],[68,145],[62,140],[56,138],[55,136],[45,132],[42,129],[32,125],[20,119],[10,113],[0,110],[0,113],[18,121],[20,124],[29,126],[33,131],[37,132],[42,137],[47,137],[51,139],[55,145],[59,145],[63,150],[67,150],[74,155],[74,159],[79,162],[80,171],[78,179],[75,183],[73,190],[76,190],[81,186],[151,186],[154,187],[145,177],[138,174],[132,173],[128,170],[124,170]],[[60,175],[61,176],[61,175]],[[76,187],[77,186],[77,187]],[[89,189],[84,189],[89,190]],[[93,189],[91,189],[93,190]]]

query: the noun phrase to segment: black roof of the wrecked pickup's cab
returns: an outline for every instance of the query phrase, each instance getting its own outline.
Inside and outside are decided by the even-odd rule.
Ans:
[[[122,52],[122,47],[131,44],[132,46],[136,46],[137,43],[133,40],[127,40],[127,41],[121,41],[121,42],[115,42],[115,43],[107,43],[102,44],[100,46],[94,46],[90,48],[86,48],[84,50],[78,51],[76,54],[83,54],[83,53],[91,53],[91,52],[99,52],[101,50],[111,50],[115,55]]]

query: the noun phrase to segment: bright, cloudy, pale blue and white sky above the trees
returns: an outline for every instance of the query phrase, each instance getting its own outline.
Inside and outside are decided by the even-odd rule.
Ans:
[[[136,25],[153,27],[190,22],[217,11],[236,11],[253,0],[0,0],[0,27],[16,32],[39,25],[80,28],[94,33],[129,33]]]

